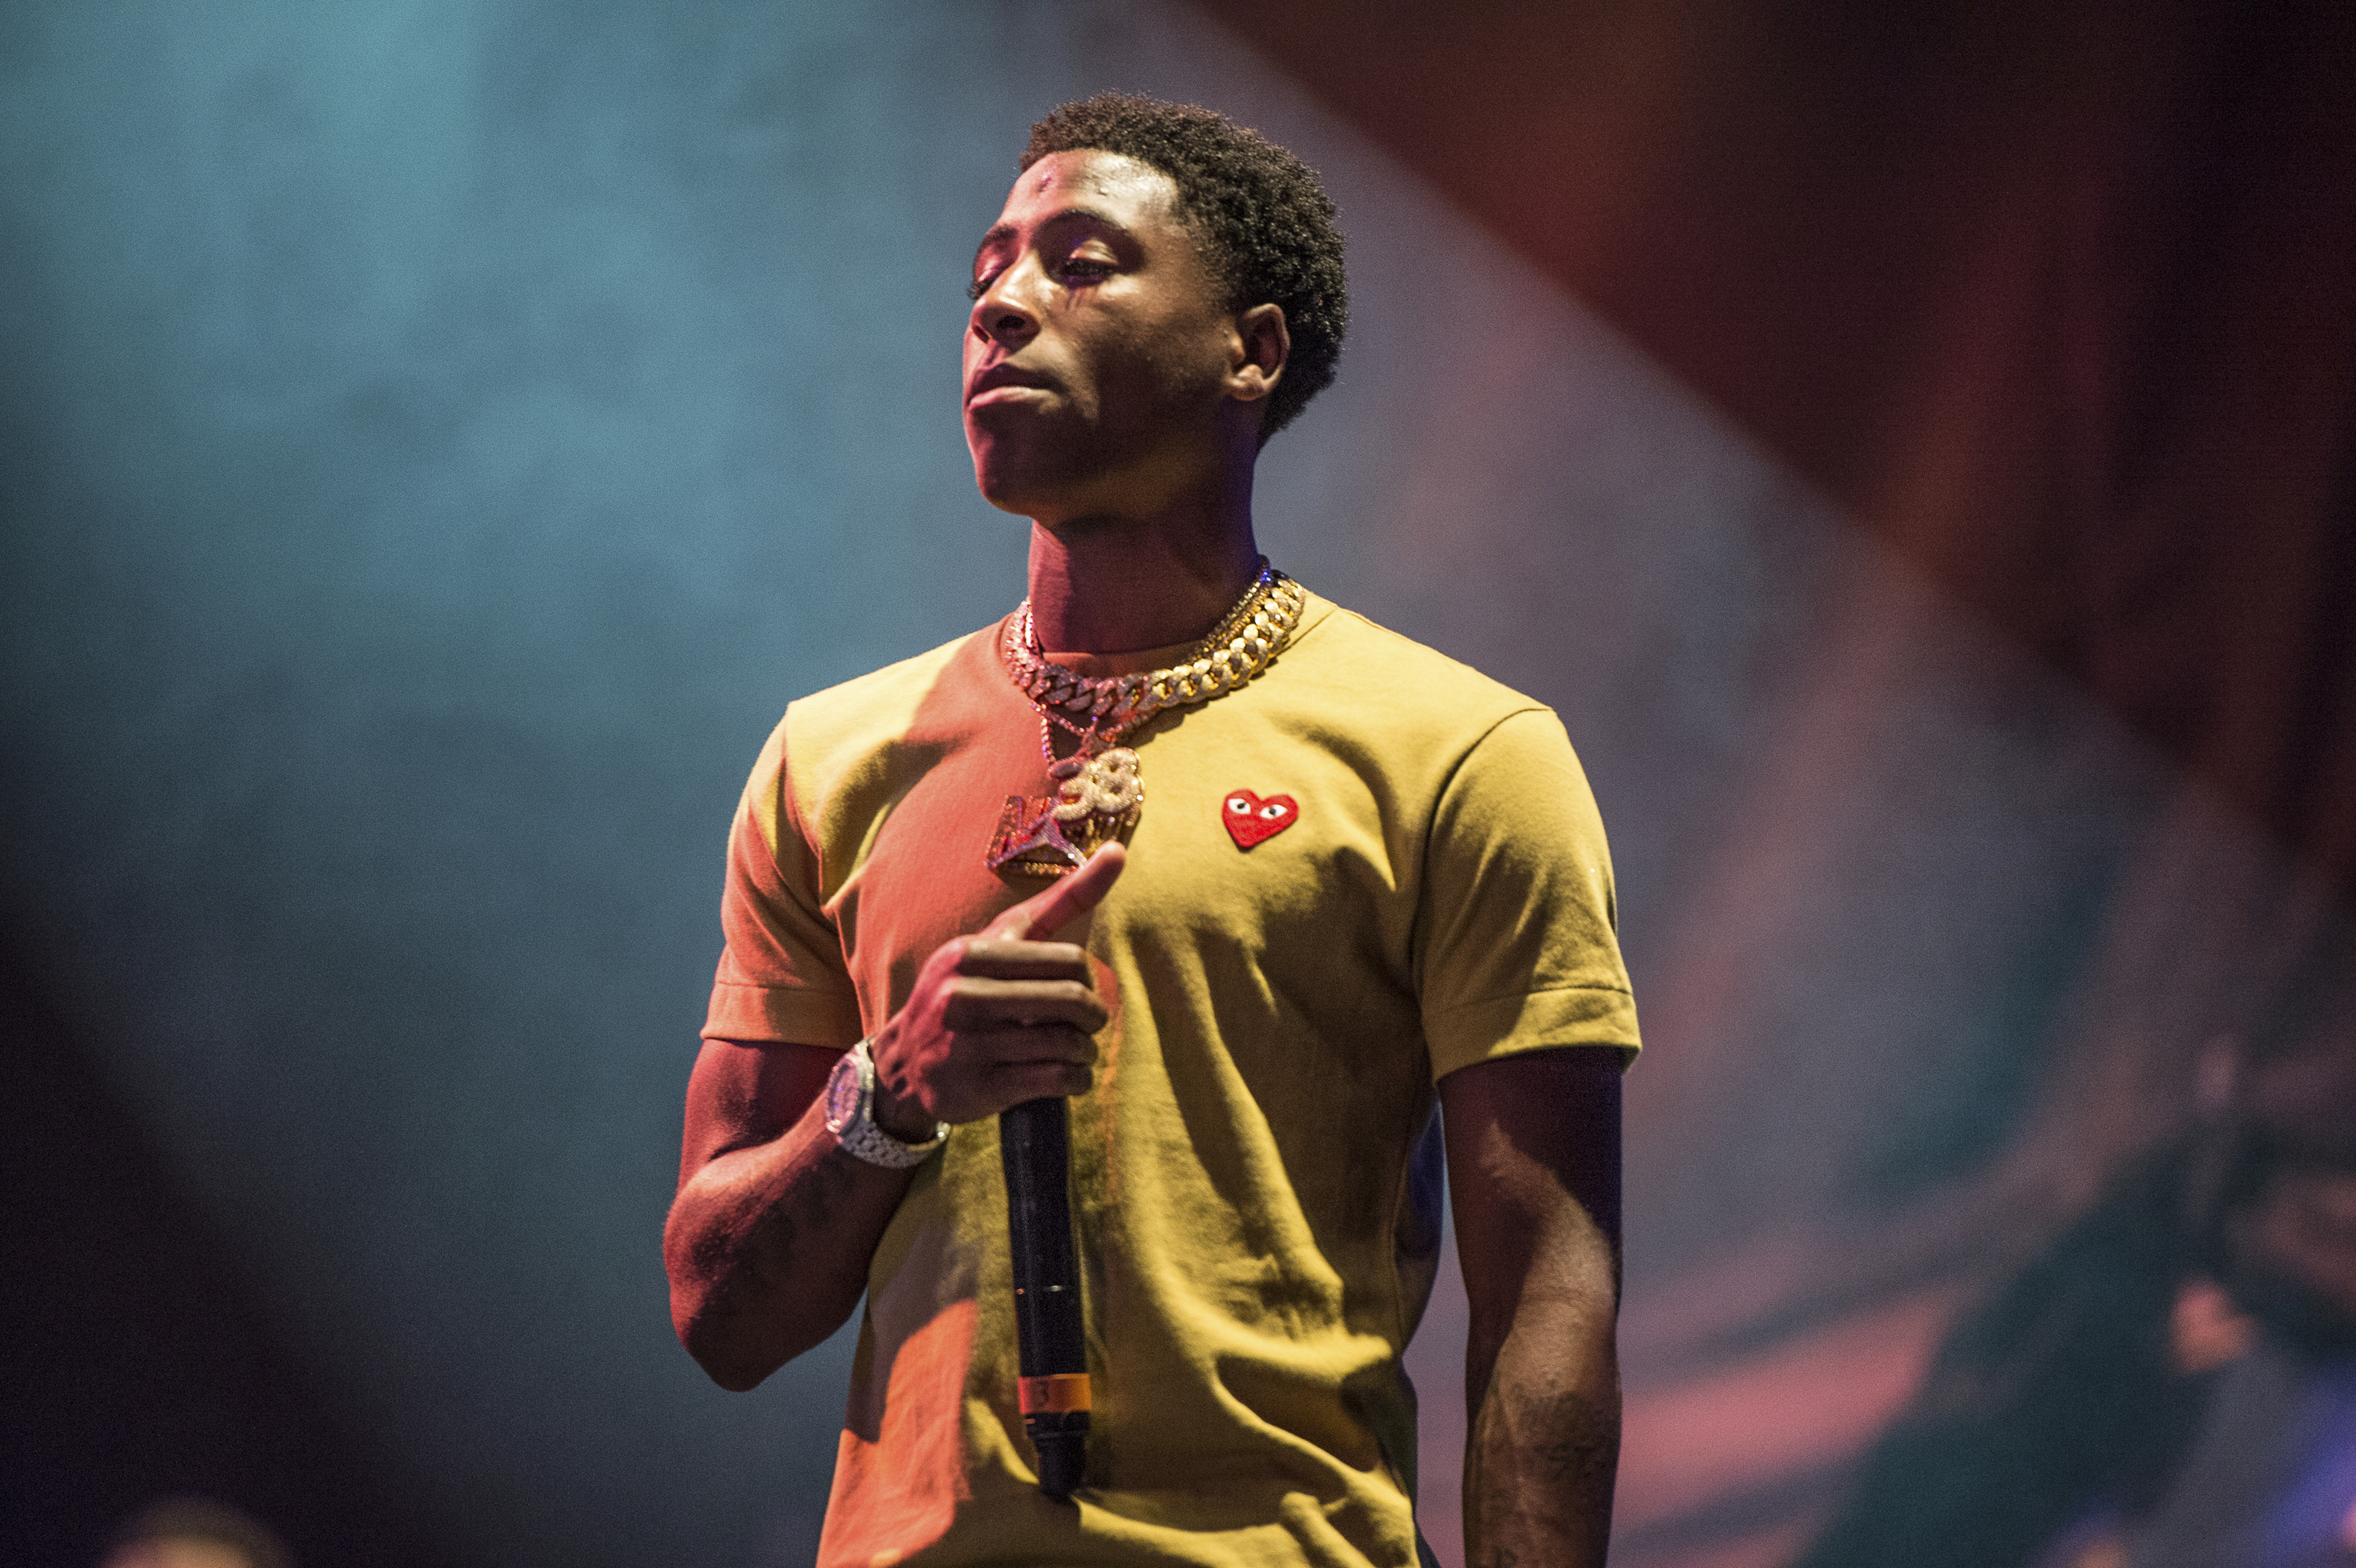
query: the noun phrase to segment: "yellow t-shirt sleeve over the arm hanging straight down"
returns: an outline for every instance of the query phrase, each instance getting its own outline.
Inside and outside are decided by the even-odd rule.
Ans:
[[[1416,970],[1432,1078],[1557,1045],[1637,1048],[1612,855],[1562,723],[1522,709],[1440,796]]]

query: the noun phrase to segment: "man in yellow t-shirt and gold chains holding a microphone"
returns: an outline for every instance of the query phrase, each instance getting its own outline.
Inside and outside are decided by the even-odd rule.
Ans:
[[[747,786],[667,1262],[730,1389],[865,1295],[829,1568],[1414,1563],[1435,1083],[1468,1561],[1604,1556],[1612,871],[1553,713],[1263,567],[1258,450],[1341,346],[1331,219],[1209,111],[1041,120],[964,339],[1030,600],[792,704]],[[1070,1502],[1018,1403],[994,1121],[1051,1095],[1093,1387]]]

